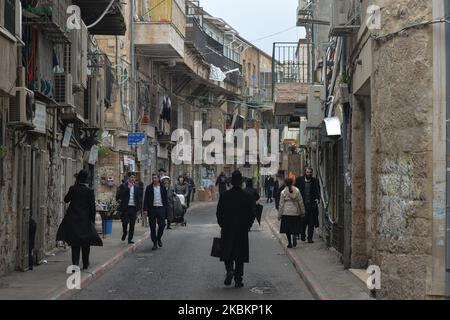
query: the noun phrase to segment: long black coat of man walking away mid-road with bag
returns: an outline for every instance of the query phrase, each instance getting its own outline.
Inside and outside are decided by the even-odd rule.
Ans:
[[[217,222],[222,228],[221,261],[250,261],[248,232],[255,213],[255,199],[241,188],[222,194],[217,206]]]

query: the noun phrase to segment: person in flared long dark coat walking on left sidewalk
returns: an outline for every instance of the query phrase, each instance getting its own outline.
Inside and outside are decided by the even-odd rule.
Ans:
[[[87,185],[88,176],[86,170],[81,170],[65,196],[64,201],[70,205],[56,236],[56,241],[72,247],[72,265],[79,265],[82,251],[84,270],[89,268],[90,246],[103,246],[95,230],[95,195]]]

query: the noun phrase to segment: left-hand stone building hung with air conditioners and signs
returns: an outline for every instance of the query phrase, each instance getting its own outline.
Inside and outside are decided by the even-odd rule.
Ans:
[[[55,249],[74,174],[85,168],[95,178],[97,134],[112,81],[95,35],[120,34],[122,15],[117,2],[89,31],[86,24],[93,21],[83,16],[80,29],[68,30],[71,4],[82,12],[86,5],[90,13],[104,11],[100,3],[83,1],[0,2],[1,50],[7,50],[0,63],[6,75],[0,81],[0,274],[27,271]]]

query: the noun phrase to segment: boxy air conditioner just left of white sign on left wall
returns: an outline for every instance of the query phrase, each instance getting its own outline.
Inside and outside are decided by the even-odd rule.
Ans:
[[[25,87],[17,87],[15,93],[9,99],[9,124],[32,127],[33,92]]]

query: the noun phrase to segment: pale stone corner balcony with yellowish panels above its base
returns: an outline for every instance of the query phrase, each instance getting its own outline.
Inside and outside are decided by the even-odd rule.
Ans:
[[[141,0],[135,24],[136,48],[163,60],[184,58],[186,16],[182,0]]]

